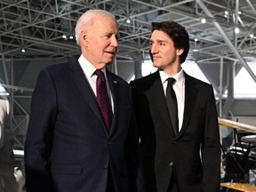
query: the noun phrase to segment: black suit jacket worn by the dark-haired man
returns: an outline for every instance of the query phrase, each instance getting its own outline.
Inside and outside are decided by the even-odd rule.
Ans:
[[[183,124],[174,137],[159,72],[131,82],[146,191],[220,188],[220,135],[212,86],[185,73]]]

